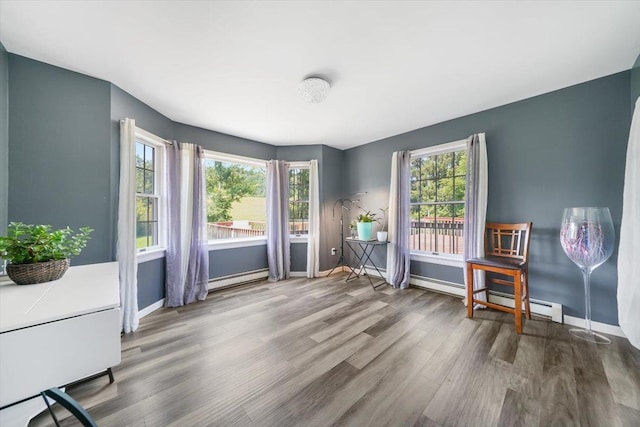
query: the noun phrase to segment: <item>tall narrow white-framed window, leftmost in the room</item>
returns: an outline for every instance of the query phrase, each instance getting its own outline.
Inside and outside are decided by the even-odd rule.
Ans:
[[[162,246],[164,143],[136,129],[136,247],[139,251]]]

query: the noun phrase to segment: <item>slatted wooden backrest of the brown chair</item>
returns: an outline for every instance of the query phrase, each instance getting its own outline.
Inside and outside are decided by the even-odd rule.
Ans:
[[[485,256],[529,260],[529,240],[533,223],[501,224],[487,222],[484,240]]]

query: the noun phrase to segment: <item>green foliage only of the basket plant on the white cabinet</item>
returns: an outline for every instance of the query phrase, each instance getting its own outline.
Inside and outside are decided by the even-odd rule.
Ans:
[[[52,230],[50,225],[11,222],[7,236],[0,237],[0,258],[11,264],[33,264],[55,261],[80,254],[93,229],[81,227],[74,232],[69,227]]]

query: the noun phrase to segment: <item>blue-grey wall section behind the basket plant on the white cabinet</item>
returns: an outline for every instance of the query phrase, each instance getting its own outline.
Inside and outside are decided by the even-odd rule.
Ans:
[[[72,264],[110,261],[110,84],[13,54],[9,76],[9,221],[89,226]]]

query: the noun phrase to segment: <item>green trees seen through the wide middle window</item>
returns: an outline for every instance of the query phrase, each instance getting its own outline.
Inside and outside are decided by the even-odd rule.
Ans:
[[[207,160],[205,167],[207,222],[231,221],[235,202],[244,197],[265,197],[264,168],[217,160]],[[254,220],[250,217],[240,219]]]

